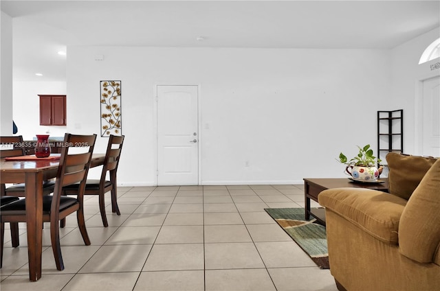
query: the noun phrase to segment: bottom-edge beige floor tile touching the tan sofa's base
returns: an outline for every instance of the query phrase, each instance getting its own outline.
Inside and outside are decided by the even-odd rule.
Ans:
[[[338,290],[330,270],[321,270],[316,266],[309,268],[269,268],[268,270],[278,291]]]

